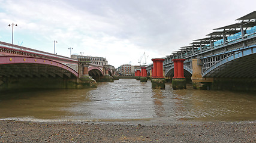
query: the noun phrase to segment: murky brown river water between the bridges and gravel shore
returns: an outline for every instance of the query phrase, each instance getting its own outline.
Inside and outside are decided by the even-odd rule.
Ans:
[[[97,89],[10,91],[0,96],[1,120],[36,122],[253,121],[255,92],[152,89],[150,80],[119,79]]]

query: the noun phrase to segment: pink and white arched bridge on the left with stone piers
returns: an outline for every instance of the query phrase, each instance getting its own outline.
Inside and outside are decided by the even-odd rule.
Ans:
[[[0,90],[20,88],[88,88],[94,80],[113,82],[115,69],[88,59],[73,59],[0,42]],[[94,83],[95,87],[95,83]]]

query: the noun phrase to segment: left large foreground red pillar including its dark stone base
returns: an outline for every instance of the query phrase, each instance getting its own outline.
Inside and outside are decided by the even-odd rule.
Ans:
[[[165,79],[163,76],[162,62],[163,58],[153,58],[153,74],[152,74],[152,88],[165,89]]]

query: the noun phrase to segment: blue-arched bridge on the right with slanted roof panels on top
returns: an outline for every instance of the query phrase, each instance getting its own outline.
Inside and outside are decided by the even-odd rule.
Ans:
[[[167,55],[165,77],[174,76],[174,59],[185,59],[184,76],[194,88],[256,90],[255,20],[256,11]]]

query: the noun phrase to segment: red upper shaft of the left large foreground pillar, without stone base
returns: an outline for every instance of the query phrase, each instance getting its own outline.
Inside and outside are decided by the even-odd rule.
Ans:
[[[164,78],[163,76],[163,68],[162,62],[164,61],[163,58],[153,58],[153,78]]]

